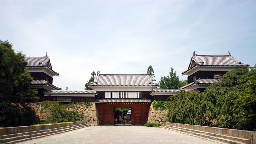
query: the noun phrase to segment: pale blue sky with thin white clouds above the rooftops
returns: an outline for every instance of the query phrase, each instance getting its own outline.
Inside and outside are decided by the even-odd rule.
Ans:
[[[53,84],[83,90],[92,71],[146,73],[156,82],[188,68],[194,51],[255,65],[256,1],[0,0],[0,39],[26,56],[45,56]]]

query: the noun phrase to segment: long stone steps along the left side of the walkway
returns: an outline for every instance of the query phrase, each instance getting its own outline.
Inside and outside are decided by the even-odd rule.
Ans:
[[[3,144],[13,144],[13,143],[19,143],[22,141],[27,141],[27,140],[31,140],[31,139],[38,139],[41,137],[45,137],[45,136],[50,136],[50,135],[54,135],[54,134],[60,134],[63,132],[68,132],[71,130],[77,130],[80,128],[85,128],[85,127],[89,127],[89,125],[86,124],[82,124],[82,125],[72,125],[71,126],[67,126],[67,127],[62,127],[62,129],[56,128],[58,130],[53,130],[53,129],[49,129],[49,130],[41,130],[44,132],[39,132],[39,133],[34,133],[34,134],[27,134],[27,135],[21,135],[21,136],[15,136],[15,137],[10,137],[10,138],[5,138],[5,139],[0,139],[0,143]],[[35,131],[37,132],[37,131]],[[30,132],[31,133],[31,132]]]

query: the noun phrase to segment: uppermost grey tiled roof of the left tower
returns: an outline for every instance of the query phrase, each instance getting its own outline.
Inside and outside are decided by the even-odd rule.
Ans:
[[[55,75],[59,75],[59,73],[55,72],[51,67],[51,61],[50,58],[46,56],[42,57],[25,57],[25,60],[27,61],[27,67],[46,67],[50,71],[52,71]]]

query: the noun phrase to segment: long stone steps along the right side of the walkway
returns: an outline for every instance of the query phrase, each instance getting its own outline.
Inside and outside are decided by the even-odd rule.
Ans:
[[[187,133],[187,134],[200,136],[200,137],[203,137],[203,138],[206,138],[206,139],[221,141],[221,142],[224,142],[224,143],[231,143],[231,144],[246,144],[246,143],[250,144],[251,143],[251,140],[243,139],[243,138],[237,138],[237,137],[233,137],[233,136],[213,134],[213,133],[210,133],[210,132],[191,130],[191,129],[180,128],[180,127],[175,127],[175,126],[170,126],[170,125],[163,125],[162,127],[166,128],[166,129],[178,131],[178,132],[184,132],[184,133]]]

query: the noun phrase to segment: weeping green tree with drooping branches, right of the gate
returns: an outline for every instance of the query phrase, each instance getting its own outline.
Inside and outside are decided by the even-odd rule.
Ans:
[[[213,104],[206,101],[201,93],[181,90],[168,100],[170,101],[168,121],[191,125],[212,125]]]

